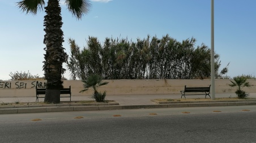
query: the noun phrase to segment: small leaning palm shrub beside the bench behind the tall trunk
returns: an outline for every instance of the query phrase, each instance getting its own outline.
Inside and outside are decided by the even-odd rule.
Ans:
[[[80,92],[85,92],[89,88],[92,88],[92,98],[95,99],[96,102],[104,102],[106,97],[106,91],[104,91],[103,93],[97,91],[99,86],[108,84],[108,82],[102,82],[102,80],[103,77],[100,75],[93,74],[88,76],[86,80],[82,80],[82,82],[84,83],[84,89]]]

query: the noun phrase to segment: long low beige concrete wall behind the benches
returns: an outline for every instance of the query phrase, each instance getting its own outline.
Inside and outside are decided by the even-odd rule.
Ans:
[[[184,85],[189,86],[209,86],[211,80],[105,80],[108,85],[102,86],[99,91],[106,90],[107,94],[173,94],[180,93]],[[256,80],[248,80],[251,88],[244,88],[248,93],[256,93]],[[36,96],[36,86],[45,87],[45,80],[33,81],[0,81],[0,97],[34,97]],[[230,80],[215,80],[216,93],[234,93],[236,88],[228,86]],[[91,95],[92,90],[79,93],[83,89],[80,80],[65,80],[63,86],[68,88],[71,85],[72,96]]]

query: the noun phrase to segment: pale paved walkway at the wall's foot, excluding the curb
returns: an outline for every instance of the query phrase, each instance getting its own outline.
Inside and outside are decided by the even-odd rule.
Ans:
[[[215,98],[237,97],[235,93],[216,93]],[[250,93],[250,98],[256,98],[256,93]],[[135,95],[106,95],[106,100],[114,100],[121,106],[126,105],[155,105],[151,99],[179,99],[181,94],[135,94]],[[183,97],[184,98],[184,97]],[[186,96],[186,98],[204,98],[200,96]],[[72,96],[71,101],[88,101],[94,100],[90,96]],[[15,103],[15,102],[35,102],[36,97],[1,97],[0,103]],[[39,101],[44,101],[39,98]],[[69,98],[61,98],[61,101],[69,101]]]

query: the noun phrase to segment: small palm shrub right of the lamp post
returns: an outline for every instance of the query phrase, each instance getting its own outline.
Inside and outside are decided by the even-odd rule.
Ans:
[[[246,81],[248,78],[244,75],[241,76],[235,76],[233,77],[234,81],[231,81],[232,84],[229,84],[229,86],[234,87],[237,86],[236,94],[238,98],[245,98],[248,97],[249,94],[246,93],[244,90],[241,90],[243,87],[250,87],[248,81]]]

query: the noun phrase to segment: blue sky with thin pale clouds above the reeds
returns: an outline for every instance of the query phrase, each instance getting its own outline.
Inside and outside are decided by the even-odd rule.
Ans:
[[[11,79],[10,73],[16,71],[44,75],[45,12],[25,14],[15,6],[19,1],[0,0],[0,80]],[[194,37],[195,46],[203,43],[211,48],[211,0],[91,0],[91,11],[82,20],[72,16],[65,1],[60,3],[67,54],[69,38],[84,47],[88,36],[103,43],[106,37],[135,41],[148,34],[158,38],[169,34],[181,42]],[[255,6],[255,0],[214,1],[215,52],[221,68],[230,63],[228,76],[256,76]],[[69,75],[67,71],[65,77]]]

